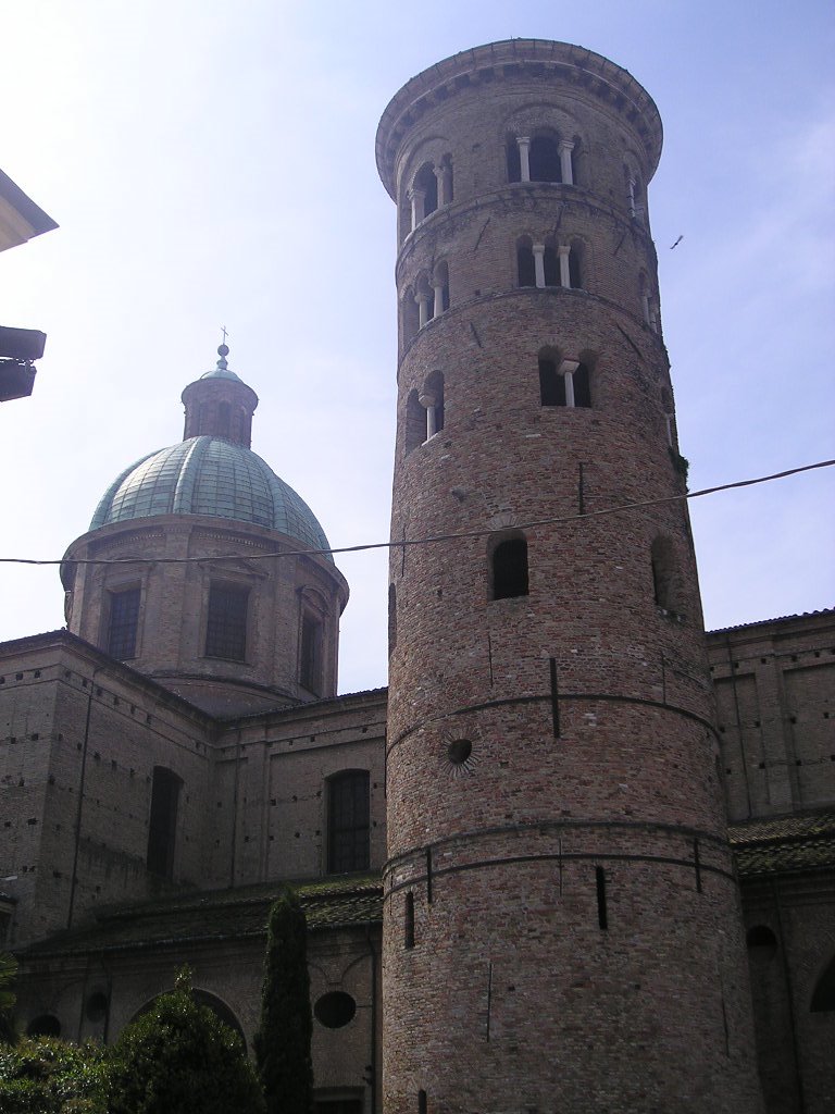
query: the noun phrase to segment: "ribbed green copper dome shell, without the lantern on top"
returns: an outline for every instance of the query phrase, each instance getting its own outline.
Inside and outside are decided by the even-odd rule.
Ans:
[[[90,529],[151,515],[230,518],[278,530],[306,549],[328,547],[292,487],[252,449],[217,437],[187,438],[126,468],[101,498]]]

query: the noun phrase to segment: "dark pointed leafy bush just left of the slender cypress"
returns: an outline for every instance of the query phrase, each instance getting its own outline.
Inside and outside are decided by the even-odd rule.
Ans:
[[[109,1114],[263,1114],[240,1037],[195,1001],[188,971],[109,1049]]]

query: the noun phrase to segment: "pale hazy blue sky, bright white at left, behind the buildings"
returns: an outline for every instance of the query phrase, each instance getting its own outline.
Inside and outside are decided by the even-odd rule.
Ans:
[[[387,538],[374,134],[414,74],[511,37],[606,55],[660,110],[650,221],[690,487],[835,457],[828,0],[0,0],[0,167],[60,224],[0,255],[0,323],[49,338],[32,398],[0,405],[0,556],[60,557],[118,471],[181,438],[222,325],[261,398],[255,451],[332,545]],[[691,516],[709,627],[835,605],[835,469]],[[341,691],[384,684],[386,557],[337,564]],[[0,639],[62,623],[55,568],[0,565]]]

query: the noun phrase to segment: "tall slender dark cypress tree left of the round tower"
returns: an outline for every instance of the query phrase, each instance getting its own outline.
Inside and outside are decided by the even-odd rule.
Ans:
[[[284,889],[269,910],[261,1024],[254,1038],[267,1114],[311,1114],[312,1033],[307,922],[296,895]]]

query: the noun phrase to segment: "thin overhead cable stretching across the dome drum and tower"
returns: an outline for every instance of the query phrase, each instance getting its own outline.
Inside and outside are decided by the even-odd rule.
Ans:
[[[770,476],[757,476],[750,480],[735,480],[733,483],[718,483],[716,487],[701,488],[700,491],[687,491],[684,495],[665,496],[662,499],[642,499],[638,502],[623,502],[616,507],[605,507],[601,510],[590,510],[577,515],[561,515],[556,518],[539,518],[530,522],[519,522],[514,525],[518,530],[532,530],[538,526],[562,526],[568,522],[584,521],[589,518],[603,518],[607,515],[622,515],[629,510],[639,510],[645,507],[658,507],[668,502],[682,502],[687,499],[699,499],[701,496],[716,495],[719,491],[733,491],[736,488],[754,487],[756,483],[768,483],[772,480],[782,480],[786,476],[796,476],[798,472],[809,472],[816,468],[831,468],[835,460],[818,460],[814,465],[800,465],[797,468],[787,468],[782,472],[772,472]],[[412,546],[430,546],[442,541],[455,541],[461,538],[482,538],[490,534],[495,534],[494,528],[479,530],[461,530],[456,534],[435,534],[425,538],[401,538],[399,541],[369,541],[357,546],[340,546],[331,549],[281,549],[271,550],[264,554],[247,554],[247,560],[264,560],[272,557],[322,557],[328,554],[355,554],[370,549],[404,549]],[[71,565],[188,565],[195,561],[203,564],[216,564],[225,560],[239,559],[240,554],[222,554],[216,557],[72,557],[69,558]],[[38,559],[35,557],[0,557],[2,565],[62,565],[67,560],[65,557]]]

